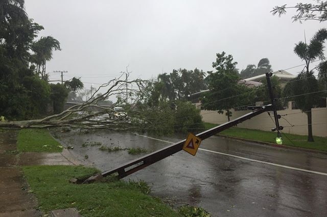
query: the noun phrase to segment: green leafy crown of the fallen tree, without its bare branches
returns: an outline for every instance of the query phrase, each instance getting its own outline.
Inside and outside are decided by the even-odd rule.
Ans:
[[[144,131],[156,134],[173,132],[199,132],[204,129],[200,110],[187,99],[161,97],[161,83],[149,81],[144,86],[142,103],[137,103],[137,117],[147,120]]]

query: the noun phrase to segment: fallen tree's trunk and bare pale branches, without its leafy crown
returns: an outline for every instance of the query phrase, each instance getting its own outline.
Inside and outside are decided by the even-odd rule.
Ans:
[[[101,85],[91,98],[84,103],[69,107],[60,114],[51,115],[43,119],[24,120],[24,121],[0,121],[0,127],[10,128],[48,128],[48,127],[72,127],[72,128],[110,128],[110,129],[132,129],[133,112],[127,111],[120,117],[115,117],[116,106],[127,106],[127,102],[122,100],[124,94],[129,94],[132,99],[128,104],[129,108],[142,100],[142,91],[148,83],[146,80],[127,80],[112,79],[106,84]],[[134,88],[129,88],[134,87]],[[107,89],[104,94],[98,94],[100,90]],[[118,100],[110,106],[99,105],[98,101],[108,97],[117,96]],[[97,111],[95,111],[95,108]],[[129,113],[130,112],[130,113]]]

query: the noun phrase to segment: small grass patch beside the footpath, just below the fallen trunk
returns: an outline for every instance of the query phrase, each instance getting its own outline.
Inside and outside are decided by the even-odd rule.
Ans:
[[[46,129],[21,129],[17,137],[20,152],[61,152],[62,146]]]

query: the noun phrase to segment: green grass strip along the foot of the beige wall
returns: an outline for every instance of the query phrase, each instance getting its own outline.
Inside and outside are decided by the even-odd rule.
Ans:
[[[206,129],[217,126],[217,124],[211,124],[211,123],[204,123],[204,125]],[[229,129],[220,132],[220,134],[228,135],[231,137],[261,141],[261,142],[269,142],[269,143],[275,143],[275,138],[276,138],[276,132],[262,131],[262,130],[255,130],[255,129],[245,129],[239,127],[231,127]],[[314,137],[315,142],[313,143],[307,141],[308,138],[306,135],[283,133],[282,138],[283,138],[283,145],[286,146],[294,146],[294,147],[308,148],[308,149],[314,149],[319,151],[327,151],[327,138]]]

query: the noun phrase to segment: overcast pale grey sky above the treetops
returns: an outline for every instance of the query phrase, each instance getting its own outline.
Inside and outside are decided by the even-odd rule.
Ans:
[[[294,11],[280,18],[270,13],[276,5],[297,2],[26,0],[25,7],[44,26],[40,36],[60,41],[62,50],[46,65],[50,78],[60,78],[54,70],[67,70],[64,79],[81,76],[88,88],[119,76],[127,65],[131,78],[143,79],[178,68],[212,70],[222,51],[240,70],[262,58],[273,70],[300,65],[294,44],[304,40],[304,31],[310,39],[325,23],[292,23]]]

